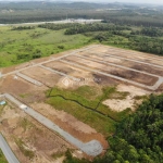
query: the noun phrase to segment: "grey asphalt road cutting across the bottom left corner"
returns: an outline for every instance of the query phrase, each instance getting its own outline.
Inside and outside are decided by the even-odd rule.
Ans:
[[[17,158],[14,155],[12,150],[10,149],[9,145],[7,143],[3,136],[0,134],[0,148],[3,151],[3,154],[5,155],[5,159],[9,163],[20,163]]]

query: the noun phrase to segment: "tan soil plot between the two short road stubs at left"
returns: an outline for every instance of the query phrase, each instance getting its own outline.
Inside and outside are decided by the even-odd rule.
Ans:
[[[28,75],[34,79],[39,80],[40,83],[49,87],[54,87],[62,77],[59,74],[51,73],[50,71],[47,71],[41,67],[28,68],[26,71],[23,71],[22,73]]]

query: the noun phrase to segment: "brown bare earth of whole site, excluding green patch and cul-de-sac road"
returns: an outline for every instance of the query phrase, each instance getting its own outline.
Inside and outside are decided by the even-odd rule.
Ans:
[[[46,103],[46,92],[53,87],[66,90],[84,85],[116,87],[120,92],[128,92],[126,98],[112,97],[102,103],[114,112],[127,108],[134,111],[142,101],[137,97],[163,90],[162,61],[162,57],[153,54],[92,45],[1,68],[0,93],[11,93],[80,141],[96,139],[106,149],[109,145],[96,127],[90,127],[65,111],[59,111]],[[20,77],[17,73],[28,78]],[[1,133],[21,162],[62,162],[67,148],[73,149],[78,158],[85,155],[10,102],[1,112],[0,120]],[[22,143],[20,146],[35,156],[29,159],[17,143]]]

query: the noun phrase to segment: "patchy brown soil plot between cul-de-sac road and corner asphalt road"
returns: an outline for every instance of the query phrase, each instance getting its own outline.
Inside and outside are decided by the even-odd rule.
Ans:
[[[23,163],[52,163],[54,155],[64,155],[74,149],[20,109],[5,106],[1,116],[1,131],[12,150]]]

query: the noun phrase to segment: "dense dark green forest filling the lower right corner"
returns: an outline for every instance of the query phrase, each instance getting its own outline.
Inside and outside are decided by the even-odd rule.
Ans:
[[[138,110],[123,120],[109,137],[110,149],[93,163],[162,163],[163,162],[163,95],[142,102]],[[66,152],[65,163],[78,161]]]

